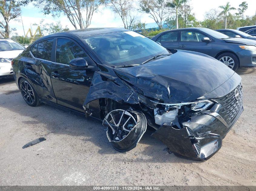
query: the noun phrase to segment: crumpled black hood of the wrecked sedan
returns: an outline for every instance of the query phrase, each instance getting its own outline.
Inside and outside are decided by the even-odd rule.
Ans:
[[[165,103],[196,100],[234,74],[233,70],[210,56],[184,50],[143,65],[116,67],[114,71],[145,96]]]

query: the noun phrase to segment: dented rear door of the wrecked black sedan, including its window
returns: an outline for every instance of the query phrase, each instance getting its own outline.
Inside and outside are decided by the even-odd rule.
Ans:
[[[40,99],[56,103],[52,90],[50,70],[52,66],[54,38],[34,44],[24,61],[24,72],[33,84]]]

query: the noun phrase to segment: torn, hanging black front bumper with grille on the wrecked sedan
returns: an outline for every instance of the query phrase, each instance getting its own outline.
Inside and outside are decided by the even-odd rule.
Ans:
[[[239,97],[235,97],[235,93]],[[212,100],[215,104],[210,110],[191,116],[190,120],[182,123],[182,129],[161,126],[152,136],[161,140],[174,154],[207,160],[221,148],[222,139],[244,110],[242,84],[223,97]]]

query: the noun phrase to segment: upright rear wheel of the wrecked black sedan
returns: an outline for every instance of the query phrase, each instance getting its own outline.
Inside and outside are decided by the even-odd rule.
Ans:
[[[40,99],[33,86],[25,79],[22,78],[19,82],[19,88],[25,102],[32,107],[40,105]],[[32,94],[34,96],[32,96]]]

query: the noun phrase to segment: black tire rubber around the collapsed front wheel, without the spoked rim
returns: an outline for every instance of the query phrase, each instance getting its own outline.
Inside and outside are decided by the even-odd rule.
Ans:
[[[113,111],[116,111],[116,110],[113,110]],[[113,111],[111,111],[111,112],[113,112]],[[124,110],[122,110],[122,111],[124,111]],[[133,113],[135,115],[136,125],[132,129],[130,129],[130,132],[128,133],[128,135],[125,138],[123,138],[119,141],[114,140],[113,134],[112,134],[113,131],[111,130],[111,128],[109,126],[107,128],[108,140],[111,142],[114,149],[119,152],[126,152],[126,151],[130,151],[131,149],[135,148],[136,145],[138,144],[139,140],[141,139],[141,137],[143,136],[143,134],[145,133],[145,131],[147,129],[147,119],[141,111],[132,111],[132,110],[128,111],[127,110],[127,112],[131,113],[131,114]],[[104,124],[105,124],[105,120],[103,121],[103,125]]]

